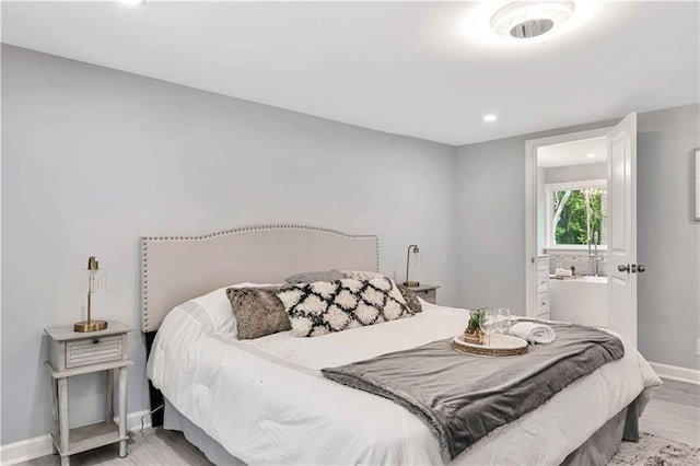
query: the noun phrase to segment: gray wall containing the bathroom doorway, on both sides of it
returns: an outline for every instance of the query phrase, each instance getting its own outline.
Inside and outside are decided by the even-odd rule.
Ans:
[[[639,349],[650,361],[700,369],[700,222],[691,220],[699,105],[638,116]],[[525,313],[525,141],[602,128],[561,128],[457,149],[459,306]]]

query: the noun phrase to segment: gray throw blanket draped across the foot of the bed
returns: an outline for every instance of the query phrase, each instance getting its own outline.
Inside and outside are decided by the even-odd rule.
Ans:
[[[322,372],[327,378],[406,407],[433,428],[443,458],[451,461],[576,378],[625,356],[622,342],[608,333],[580,325],[547,325],[557,339],[530,346],[527,354],[465,354],[453,349],[448,338]]]

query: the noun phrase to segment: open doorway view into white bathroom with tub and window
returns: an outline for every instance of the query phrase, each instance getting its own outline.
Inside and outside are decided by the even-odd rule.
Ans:
[[[607,138],[538,145],[536,160],[537,300],[553,321],[607,327]]]

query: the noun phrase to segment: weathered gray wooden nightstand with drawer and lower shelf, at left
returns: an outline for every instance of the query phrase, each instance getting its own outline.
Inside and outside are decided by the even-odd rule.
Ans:
[[[127,455],[127,334],[133,328],[110,321],[100,331],[73,331],[73,326],[49,327],[49,360],[44,363],[51,375],[51,438],[54,453],[61,455],[61,466],[70,455],[119,442],[119,457]],[[106,372],[105,421],[69,429],[68,377]],[[118,380],[119,420],[114,422],[114,383]]]

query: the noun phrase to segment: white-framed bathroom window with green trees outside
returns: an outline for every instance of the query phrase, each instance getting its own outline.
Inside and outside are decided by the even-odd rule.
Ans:
[[[547,245],[607,244],[607,182],[545,185],[547,193]]]

